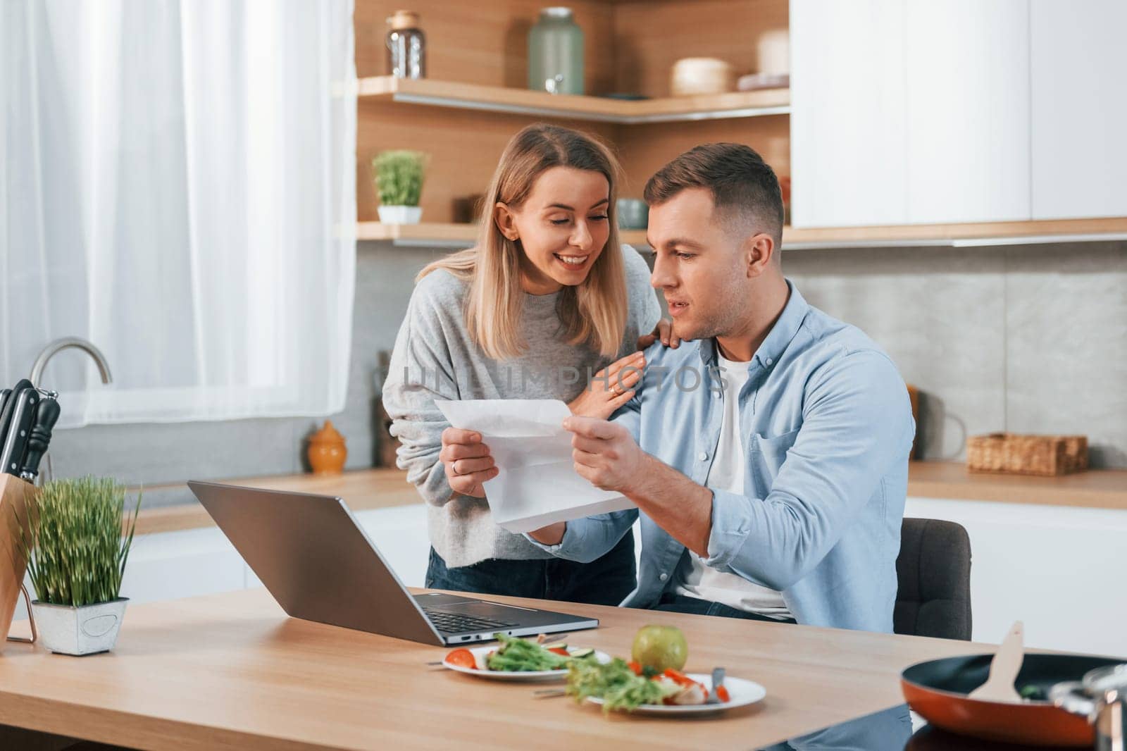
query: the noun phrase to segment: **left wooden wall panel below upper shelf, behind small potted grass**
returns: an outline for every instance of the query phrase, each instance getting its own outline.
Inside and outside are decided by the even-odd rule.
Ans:
[[[356,212],[360,221],[376,221],[372,157],[385,149],[417,149],[431,154],[423,186],[423,221],[454,221],[454,200],[485,193],[497,160],[513,135],[540,122],[522,115],[449,109],[361,99],[356,138]],[[552,121],[593,133],[610,144],[616,125]]]

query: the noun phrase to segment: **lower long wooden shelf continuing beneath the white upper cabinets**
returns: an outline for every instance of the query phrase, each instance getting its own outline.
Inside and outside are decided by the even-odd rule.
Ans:
[[[469,247],[477,224],[381,224],[357,222],[357,240],[387,240],[401,246]],[[623,242],[646,246],[646,230],[621,230]],[[1127,218],[1067,219],[976,224],[904,224],[897,227],[783,228],[784,250],[869,248],[879,246],[970,247],[1127,239]]]

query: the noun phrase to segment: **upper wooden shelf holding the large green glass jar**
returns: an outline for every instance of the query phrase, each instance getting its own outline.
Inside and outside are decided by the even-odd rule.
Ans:
[[[628,101],[391,76],[363,78],[358,83],[362,103],[385,100],[621,125],[760,117],[790,113],[789,89]]]

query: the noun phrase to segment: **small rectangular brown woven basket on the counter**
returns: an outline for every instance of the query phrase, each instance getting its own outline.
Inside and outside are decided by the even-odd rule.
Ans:
[[[971,435],[967,439],[967,469],[1046,477],[1080,472],[1088,469],[1088,436]]]

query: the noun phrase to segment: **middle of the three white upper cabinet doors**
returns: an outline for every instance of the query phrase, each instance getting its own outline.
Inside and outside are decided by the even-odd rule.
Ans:
[[[904,29],[908,221],[1029,219],[1029,0],[909,0]]]

